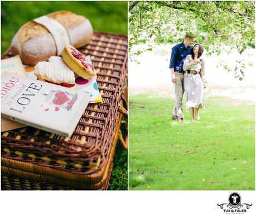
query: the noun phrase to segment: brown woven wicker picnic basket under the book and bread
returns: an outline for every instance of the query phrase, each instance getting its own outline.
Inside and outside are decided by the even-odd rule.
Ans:
[[[103,102],[88,105],[70,138],[32,127],[2,132],[2,190],[108,188],[118,139],[127,148],[127,37],[95,32],[79,51],[91,56]]]

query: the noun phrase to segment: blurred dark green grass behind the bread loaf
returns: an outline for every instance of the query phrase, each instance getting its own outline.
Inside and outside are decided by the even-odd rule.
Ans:
[[[127,34],[127,2],[1,2],[2,54],[23,24],[33,18],[61,10],[87,17],[95,31]]]

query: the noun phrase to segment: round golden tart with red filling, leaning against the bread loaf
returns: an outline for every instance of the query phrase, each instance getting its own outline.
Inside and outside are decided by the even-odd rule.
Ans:
[[[61,53],[65,63],[84,79],[90,79],[96,75],[95,68],[74,46],[66,45]]]

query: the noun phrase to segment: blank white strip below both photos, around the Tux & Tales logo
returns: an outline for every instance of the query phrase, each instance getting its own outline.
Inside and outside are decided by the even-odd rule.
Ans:
[[[4,215],[218,215],[225,213],[217,203],[227,203],[231,192],[235,191],[1,191],[0,212]],[[244,214],[256,214],[256,192],[236,192],[241,203],[253,203]]]

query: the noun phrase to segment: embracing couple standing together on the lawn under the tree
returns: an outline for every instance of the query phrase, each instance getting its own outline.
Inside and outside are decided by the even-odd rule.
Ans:
[[[186,33],[184,41],[172,48],[170,69],[175,88],[175,103],[172,119],[183,122],[182,97],[186,92],[186,107],[191,121],[200,120],[199,108],[205,108],[202,88],[206,88],[204,47],[195,42],[195,35]]]

